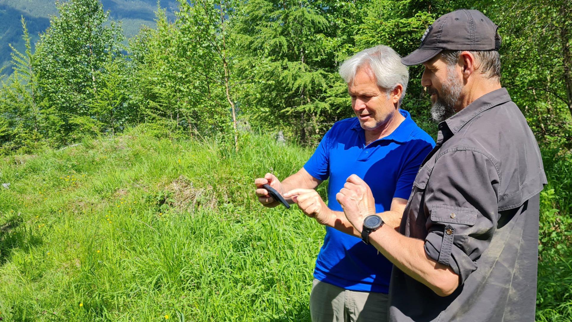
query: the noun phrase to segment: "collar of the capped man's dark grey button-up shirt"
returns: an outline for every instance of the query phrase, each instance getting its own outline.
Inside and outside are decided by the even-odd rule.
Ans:
[[[506,88],[499,88],[490,93],[479,97],[471,104],[468,104],[466,108],[463,108],[458,113],[439,123],[439,129],[442,129],[444,124],[450,129],[453,135],[455,135],[468,121],[472,120],[475,116],[486,111],[489,108],[495,107],[496,105],[506,103],[511,101],[509,92]]]

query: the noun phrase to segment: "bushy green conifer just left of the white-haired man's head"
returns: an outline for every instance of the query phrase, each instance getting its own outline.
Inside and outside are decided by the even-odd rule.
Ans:
[[[335,23],[347,22],[345,15],[360,4],[337,3],[340,12],[328,5],[259,0],[237,8],[237,68],[248,82],[241,104],[253,124],[316,143],[334,121],[351,115],[337,65],[352,40]]]

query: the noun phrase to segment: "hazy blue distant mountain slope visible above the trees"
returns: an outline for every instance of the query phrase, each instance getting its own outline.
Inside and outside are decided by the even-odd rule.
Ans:
[[[109,10],[109,17],[121,21],[125,37],[136,35],[142,25],[155,25],[156,0],[100,0],[104,10]],[[161,0],[160,6],[167,9],[168,17],[174,18],[175,0]],[[26,19],[26,25],[32,41],[38,41],[39,33],[50,25],[50,17],[57,15],[54,0],[0,0],[0,66],[6,66],[2,74],[10,74],[9,64],[13,45],[21,52],[24,50],[22,41],[22,25],[20,18]]]

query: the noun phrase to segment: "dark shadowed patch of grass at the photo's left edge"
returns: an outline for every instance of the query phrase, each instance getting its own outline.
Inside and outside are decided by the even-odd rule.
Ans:
[[[14,249],[29,250],[41,245],[42,239],[33,230],[22,225],[22,217],[13,215],[0,224],[0,266],[10,257]]]

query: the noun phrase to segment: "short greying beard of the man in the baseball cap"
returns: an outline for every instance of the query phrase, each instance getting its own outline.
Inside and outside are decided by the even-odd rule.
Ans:
[[[459,102],[463,84],[455,74],[455,66],[447,66],[447,80],[442,93],[431,107],[431,117],[440,123],[455,114],[455,104]]]

